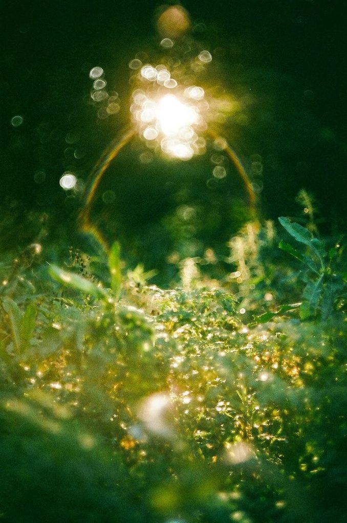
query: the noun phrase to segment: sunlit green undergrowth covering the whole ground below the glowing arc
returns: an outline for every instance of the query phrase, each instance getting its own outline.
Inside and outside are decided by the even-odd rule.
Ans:
[[[248,225],[171,290],[117,244],[98,277],[4,259],[4,521],[344,521],[343,249],[281,223],[298,248]]]

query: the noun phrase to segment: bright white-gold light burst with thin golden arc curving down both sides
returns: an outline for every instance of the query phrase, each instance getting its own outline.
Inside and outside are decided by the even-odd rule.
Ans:
[[[200,61],[200,55],[205,57],[204,53],[207,56],[208,51],[199,54]],[[210,56],[208,53],[208,61]],[[122,134],[120,140],[115,140],[107,147],[89,176],[91,183],[86,188],[84,207],[80,213],[82,229],[92,233],[108,252],[109,247],[102,232],[91,222],[93,199],[110,163],[136,136],[165,157],[181,161],[191,160],[193,156],[206,152],[204,135],[213,143],[221,144],[220,149],[232,162],[242,180],[252,216],[255,218],[256,197],[247,172],[227,141],[211,128],[213,107],[218,102],[214,99],[206,100],[205,90],[200,86],[178,84],[171,77],[169,69],[162,64],[155,67],[151,64],[143,65],[137,72],[137,79],[141,88],[136,88],[132,93],[132,126]]]

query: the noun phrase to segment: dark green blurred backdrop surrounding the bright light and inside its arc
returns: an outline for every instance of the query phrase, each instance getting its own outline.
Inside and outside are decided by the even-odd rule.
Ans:
[[[25,211],[33,209],[48,212],[52,238],[54,230],[59,230],[57,237],[71,235],[81,201],[66,199],[59,178],[72,168],[86,179],[125,123],[131,91],[128,62],[138,51],[153,50],[154,57],[158,52],[153,13],[159,5],[3,0],[1,202],[2,215],[16,217],[8,245],[30,236],[28,230],[18,231]],[[297,214],[295,197],[306,188],[319,203],[322,231],[343,230],[345,2],[202,0],[183,5],[195,23],[205,24],[194,35],[202,49],[212,54],[223,50],[214,60],[212,80],[236,97],[252,97],[247,124],[229,121],[226,135],[245,165],[252,154],[262,157],[264,218]],[[95,65],[103,67],[108,87],[120,94],[124,112],[118,117],[98,120],[96,109],[86,102],[88,72]],[[24,118],[18,128],[10,124],[14,115]],[[71,160],[64,157],[65,137],[76,131],[83,157]],[[199,247],[190,254],[209,245],[222,250],[244,220],[237,177],[229,175],[224,185],[210,190],[208,158],[184,165],[158,161],[146,169],[136,158],[124,154],[117,176],[112,175],[114,166],[105,178],[105,187],[116,193],[106,211],[110,239],[118,235],[130,258],[141,256],[148,267],[160,265],[180,241],[180,233],[172,233],[180,224],[170,217],[177,206],[196,205]],[[33,175],[40,169],[46,180],[37,184]]]

